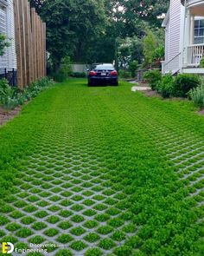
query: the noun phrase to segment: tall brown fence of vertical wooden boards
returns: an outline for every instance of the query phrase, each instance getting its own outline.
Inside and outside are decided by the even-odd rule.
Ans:
[[[46,75],[46,24],[28,0],[14,1],[17,84],[22,89]]]

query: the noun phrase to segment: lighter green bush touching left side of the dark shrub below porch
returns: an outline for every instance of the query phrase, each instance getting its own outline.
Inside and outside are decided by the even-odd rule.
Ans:
[[[156,86],[156,90],[163,96],[163,98],[169,98],[174,94],[174,77],[164,75],[161,82]]]

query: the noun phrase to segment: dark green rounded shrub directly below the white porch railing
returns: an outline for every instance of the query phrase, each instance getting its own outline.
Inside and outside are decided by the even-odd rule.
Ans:
[[[180,74],[175,77],[174,93],[175,97],[186,97],[190,89],[201,84],[198,75]]]

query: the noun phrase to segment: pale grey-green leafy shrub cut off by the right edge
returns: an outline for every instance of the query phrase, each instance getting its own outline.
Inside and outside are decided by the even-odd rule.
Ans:
[[[204,108],[204,83],[191,89],[188,95],[196,107]]]

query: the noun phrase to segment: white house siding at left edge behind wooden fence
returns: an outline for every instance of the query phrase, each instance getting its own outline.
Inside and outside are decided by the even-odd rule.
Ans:
[[[10,39],[10,47],[5,49],[5,54],[0,56],[0,74],[7,69],[16,70],[15,24],[14,7],[15,0],[0,0],[0,34]]]

